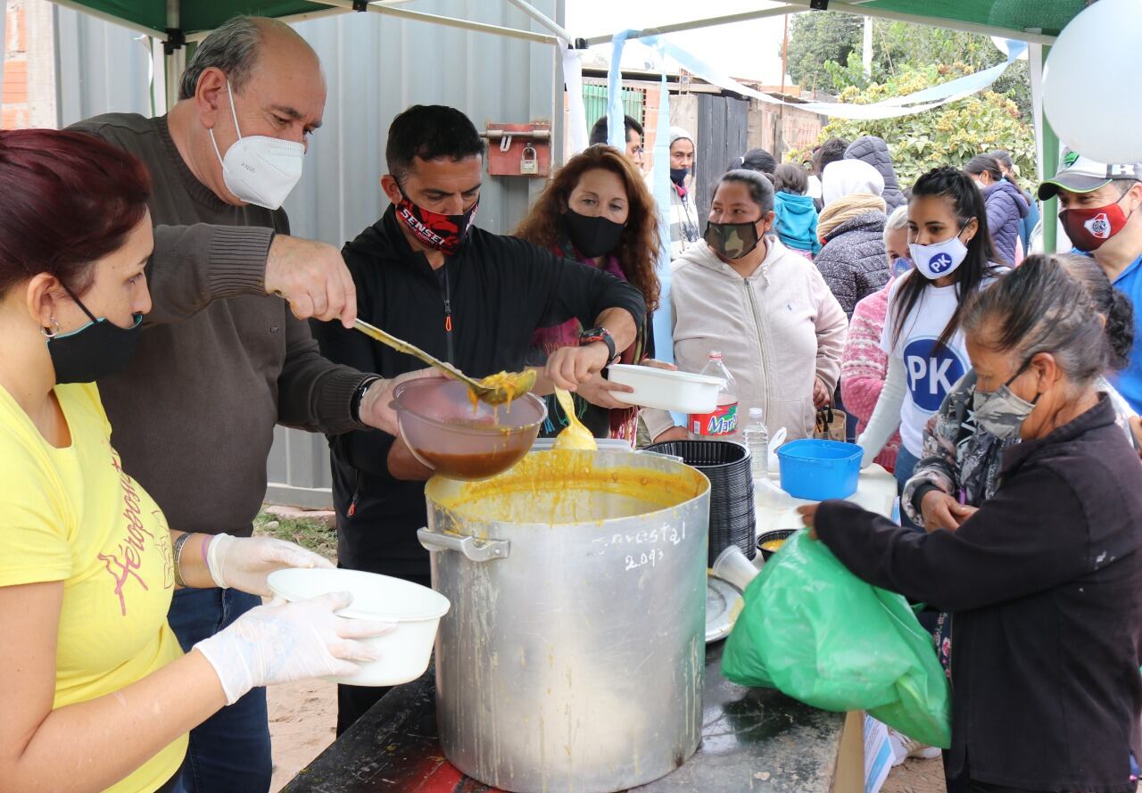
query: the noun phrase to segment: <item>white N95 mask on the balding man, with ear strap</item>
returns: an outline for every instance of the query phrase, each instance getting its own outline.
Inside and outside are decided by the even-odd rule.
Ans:
[[[210,129],[210,143],[222,163],[222,179],[226,188],[240,200],[279,209],[289,195],[297,180],[301,178],[301,161],[305,157],[305,146],[293,140],[281,140],[265,135],[242,137],[238,128],[238,113],[234,112],[234,94],[226,82],[226,94],[230,95],[230,113],[234,118],[234,131],[238,140],[226,149],[224,157],[215,141],[214,129]]]

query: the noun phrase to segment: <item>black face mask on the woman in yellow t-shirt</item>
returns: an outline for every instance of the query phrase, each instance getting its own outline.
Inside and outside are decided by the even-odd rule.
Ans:
[[[91,322],[71,333],[49,335],[49,331],[45,329],[48,354],[51,356],[51,365],[56,367],[56,383],[95,382],[127,369],[139,340],[143,315],[136,314],[135,324],[130,327],[120,327],[106,317],[96,319],[70,289],[64,286],[64,291]]]

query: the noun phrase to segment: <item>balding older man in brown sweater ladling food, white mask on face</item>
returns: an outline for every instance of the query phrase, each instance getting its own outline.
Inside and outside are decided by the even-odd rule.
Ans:
[[[199,47],[168,115],[75,126],[142,159],[154,181],[150,327],[130,369],[98,385],[126,469],[171,528],[248,536],[276,423],[394,431],[394,381],[325,361],[303,322],[356,316],[339,251],[287,236],[279,207],[324,104],[321,64],[297,33],[236,18]],[[188,650],[257,602],[184,589],[170,624]],[[192,730],[180,790],[258,793],[270,778],[265,689]]]

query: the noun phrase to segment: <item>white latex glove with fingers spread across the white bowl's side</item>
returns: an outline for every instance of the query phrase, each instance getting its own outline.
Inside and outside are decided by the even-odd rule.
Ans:
[[[226,704],[233,705],[257,686],[353,674],[360,669],[354,661],[377,660],[367,645],[354,640],[388,633],[394,628],[391,623],[333,614],[353,602],[348,592],[280,602],[258,606],[194,645],[217,672]]]

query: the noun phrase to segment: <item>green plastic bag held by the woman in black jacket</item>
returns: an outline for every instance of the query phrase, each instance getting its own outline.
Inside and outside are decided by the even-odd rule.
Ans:
[[[951,745],[948,679],[900,594],[871,586],[804,531],[746,588],[722,673],[826,711],[867,711],[930,746]]]

